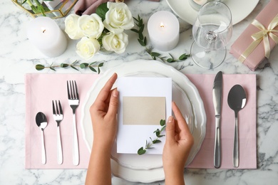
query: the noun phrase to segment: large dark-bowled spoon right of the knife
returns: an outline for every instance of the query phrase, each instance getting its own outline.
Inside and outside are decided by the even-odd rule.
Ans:
[[[239,154],[238,154],[238,125],[237,115],[240,110],[246,104],[246,94],[241,85],[234,85],[228,94],[228,105],[235,111],[235,138],[234,138],[234,155],[233,164],[237,168],[239,166]]]

